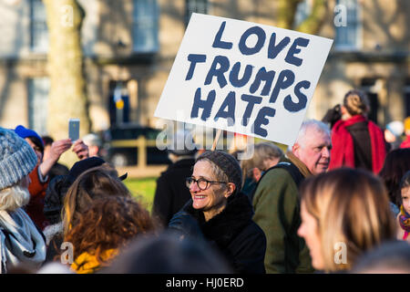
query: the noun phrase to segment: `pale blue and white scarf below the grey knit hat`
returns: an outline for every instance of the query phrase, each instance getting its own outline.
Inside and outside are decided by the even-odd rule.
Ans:
[[[0,211],[0,274],[23,264],[38,268],[46,260],[46,243],[23,209]]]

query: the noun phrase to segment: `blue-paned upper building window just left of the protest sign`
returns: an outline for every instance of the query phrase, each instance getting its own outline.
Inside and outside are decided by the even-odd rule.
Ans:
[[[133,50],[152,53],[159,50],[159,8],[156,0],[134,0]]]

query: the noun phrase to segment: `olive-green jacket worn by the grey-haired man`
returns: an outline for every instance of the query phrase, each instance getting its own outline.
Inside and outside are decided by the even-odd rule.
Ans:
[[[311,175],[307,167],[299,161],[292,153],[287,154],[290,159],[282,158],[281,162],[292,162],[306,177]],[[266,235],[265,269],[266,273],[285,273],[284,266],[284,228],[278,215],[278,201],[280,193],[284,193],[284,214],[290,225],[294,212],[299,214],[299,193],[292,176],[284,169],[272,169],[267,172],[259,183],[254,196],[253,221],[261,226]],[[300,216],[300,214],[299,214]],[[292,251],[293,256],[299,256],[299,266],[294,273],[313,273],[308,247],[300,238],[300,250]]]

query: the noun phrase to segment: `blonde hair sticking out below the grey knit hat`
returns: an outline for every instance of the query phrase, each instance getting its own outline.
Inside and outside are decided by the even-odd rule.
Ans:
[[[0,211],[15,211],[30,201],[30,193],[22,183],[23,180],[0,191]]]

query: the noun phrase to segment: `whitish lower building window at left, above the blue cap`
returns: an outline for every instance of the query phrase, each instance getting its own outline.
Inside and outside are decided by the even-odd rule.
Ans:
[[[46,134],[48,78],[33,78],[28,80],[28,126],[39,135]]]

